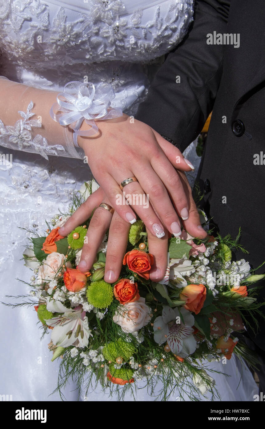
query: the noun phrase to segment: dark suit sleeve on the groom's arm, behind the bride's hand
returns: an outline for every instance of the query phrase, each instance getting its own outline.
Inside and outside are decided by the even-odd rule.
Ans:
[[[230,0],[195,2],[188,35],[167,55],[136,115],[182,151],[196,139],[214,105],[224,47],[207,44],[207,35],[226,33],[229,6]]]

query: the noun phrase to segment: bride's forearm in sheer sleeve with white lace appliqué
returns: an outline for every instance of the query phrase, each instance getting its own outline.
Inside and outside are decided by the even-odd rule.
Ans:
[[[0,76],[0,145],[40,154],[82,158],[73,130],[53,121],[49,111],[57,92],[12,82]]]

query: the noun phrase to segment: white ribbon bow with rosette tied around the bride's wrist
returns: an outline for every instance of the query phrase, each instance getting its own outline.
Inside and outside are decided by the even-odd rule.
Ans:
[[[101,82],[97,87],[91,82],[68,82],[57,96],[57,103],[50,109],[51,118],[60,125],[69,125],[74,130],[74,145],[77,136],[93,136],[98,132],[95,119],[113,119],[122,116],[122,109],[110,107],[115,93],[110,84]],[[63,113],[54,113],[54,109]],[[80,131],[83,121],[89,130]]]

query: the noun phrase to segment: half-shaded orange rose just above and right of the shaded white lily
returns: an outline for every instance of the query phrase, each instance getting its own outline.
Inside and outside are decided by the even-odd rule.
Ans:
[[[206,287],[203,284],[188,284],[180,294],[180,299],[186,301],[184,305],[187,310],[198,314],[206,299]]]

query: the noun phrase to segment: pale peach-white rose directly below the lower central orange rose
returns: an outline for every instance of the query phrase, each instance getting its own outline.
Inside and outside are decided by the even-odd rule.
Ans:
[[[138,301],[119,305],[113,321],[121,326],[123,332],[135,332],[146,326],[151,320],[151,309],[145,304],[144,298]]]

